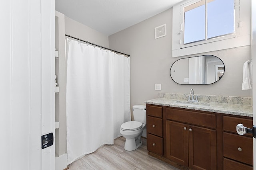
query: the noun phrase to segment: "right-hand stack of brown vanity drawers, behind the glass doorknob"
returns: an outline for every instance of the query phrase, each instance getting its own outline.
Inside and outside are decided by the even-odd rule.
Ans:
[[[253,139],[252,135],[240,136],[236,133],[236,125],[242,123],[251,128],[252,119],[237,116],[222,116],[223,124],[223,169],[252,170],[253,169]]]

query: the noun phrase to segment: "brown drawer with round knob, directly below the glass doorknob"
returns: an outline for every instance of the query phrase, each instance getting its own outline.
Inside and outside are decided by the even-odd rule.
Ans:
[[[223,133],[223,156],[246,164],[253,164],[252,137]]]

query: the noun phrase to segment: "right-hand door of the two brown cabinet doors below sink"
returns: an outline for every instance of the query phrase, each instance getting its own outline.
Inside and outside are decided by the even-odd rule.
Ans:
[[[217,169],[216,130],[189,125],[188,147],[190,168]]]

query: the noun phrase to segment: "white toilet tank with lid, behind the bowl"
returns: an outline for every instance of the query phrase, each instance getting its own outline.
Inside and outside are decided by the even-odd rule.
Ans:
[[[146,124],[146,106],[134,105],[132,106],[134,121]]]

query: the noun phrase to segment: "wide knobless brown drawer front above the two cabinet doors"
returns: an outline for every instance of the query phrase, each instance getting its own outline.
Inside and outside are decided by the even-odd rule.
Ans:
[[[174,121],[200,125],[203,127],[216,128],[216,115],[188,111],[183,109],[166,108],[166,118]]]

